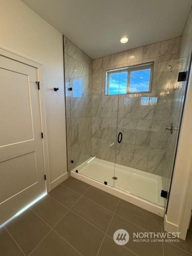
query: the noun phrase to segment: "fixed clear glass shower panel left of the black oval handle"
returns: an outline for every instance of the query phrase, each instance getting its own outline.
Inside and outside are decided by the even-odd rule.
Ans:
[[[102,73],[70,79],[71,169],[113,186],[118,97],[100,83]]]

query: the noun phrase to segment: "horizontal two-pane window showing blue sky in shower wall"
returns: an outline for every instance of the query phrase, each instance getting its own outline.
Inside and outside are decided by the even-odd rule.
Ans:
[[[154,62],[106,70],[105,94],[150,92]]]

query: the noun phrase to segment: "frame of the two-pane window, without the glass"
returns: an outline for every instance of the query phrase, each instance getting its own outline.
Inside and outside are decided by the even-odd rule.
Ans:
[[[149,90],[147,91],[134,91],[134,92],[130,92],[130,73],[132,71],[137,71],[137,70],[144,70],[144,69],[149,69],[151,70],[150,72],[150,80],[149,80]],[[114,68],[114,69],[110,69],[110,70],[105,70],[105,95],[123,95],[123,94],[136,94],[136,93],[146,93],[146,92],[151,92],[151,88],[152,88],[152,78],[153,78],[153,69],[154,69],[154,62],[146,62],[146,63],[141,63],[138,65],[132,65],[132,66],[126,66],[126,67],[122,67],[122,68]],[[120,73],[120,72],[124,72],[127,71],[128,72],[128,76],[127,76],[127,88],[126,88],[126,93],[119,93],[119,94],[109,94],[109,76],[110,74],[113,73]]]

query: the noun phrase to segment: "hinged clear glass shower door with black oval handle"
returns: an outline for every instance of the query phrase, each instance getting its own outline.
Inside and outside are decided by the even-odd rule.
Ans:
[[[178,73],[186,62],[155,60],[151,92],[118,95],[114,186],[165,208],[186,91]]]

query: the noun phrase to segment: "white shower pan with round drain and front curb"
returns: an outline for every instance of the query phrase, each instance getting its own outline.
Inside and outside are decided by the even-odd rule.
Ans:
[[[145,210],[164,215],[161,176],[99,158],[89,158],[74,168],[71,176]]]

